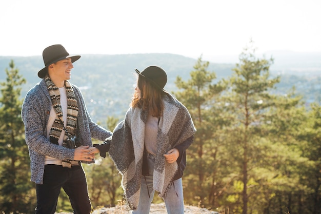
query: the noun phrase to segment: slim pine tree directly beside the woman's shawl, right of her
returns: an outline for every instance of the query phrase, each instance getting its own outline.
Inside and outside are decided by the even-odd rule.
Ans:
[[[194,141],[187,149],[188,166],[183,183],[189,187],[185,191],[189,203],[196,203],[204,206],[214,206],[214,192],[219,166],[217,165],[216,153],[219,144],[213,141],[217,120],[216,115],[211,112],[214,98],[224,89],[220,83],[214,84],[216,74],[208,71],[209,62],[203,62],[199,57],[194,70],[190,72],[191,79],[183,81],[180,76],[176,78],[176,86],[179,91],[173,93],[189,110],[194,125],[197,129]],[[213,168],[213,166],[216,166]],[[212,198],[211,198],[212,197]],[[207,201],[211,198],[211,202]]]

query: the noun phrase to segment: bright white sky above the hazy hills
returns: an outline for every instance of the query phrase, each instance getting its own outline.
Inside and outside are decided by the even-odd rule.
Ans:
[[[0,56],[173,53],[223,62],[257,52],[321,52],[319,0],[2,0]]]

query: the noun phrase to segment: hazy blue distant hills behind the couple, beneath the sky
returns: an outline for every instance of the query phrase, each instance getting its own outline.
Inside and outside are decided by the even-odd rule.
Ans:
[[[266,54],[266,57],[270,56],[271,54]],[[283,76],[284,81],[278,86],[278,90],[282,93],[289,90],[293,84],[299,84],[302,89],[301,93],[307,91],[311,96],[312,91],[312,98],[307,96],[307,100],[313,101],[315,100],[313,94],[320,94],[318,91],[321,90],[317,86],[321,85],[321,57],[319,57],[321,54],[299,56],[286,53],[272,55],[275,64],[271,66],[271,75]],[[22,91],[24,97],[27,91],[41,80],[37,76],[37,71],[44,67],[42,56],[0,56],[0,82],[5,81],[4,71],[9,68],[11,59],[19,69],[19,73],[27,80]],[[81,87],[93,120],[105,123],[107,116],[122,117],[126,112],[136,82],[135,68],[142,71],[149,65],[163,67],[168,74],[168,83],[165,88],[175,91],[177,89],[174,84],[176,77],[179,75],[184,80],[189,79],[189,73],[196,62],[197,59],[166,53],[84,54],[74,63],[70,82]],[[208,70],[214,71],[217,80],[220,80],[231,76],[234,67],[235,64],[210,62]]]

